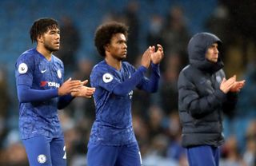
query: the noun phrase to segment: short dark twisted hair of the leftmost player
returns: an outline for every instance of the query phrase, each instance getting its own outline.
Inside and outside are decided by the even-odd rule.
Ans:
[[[34,21],[30,28],[30,39],[33,42],[37,42],[38,35],[46,33],[48,30],[59,28],[58,22],[53,18],[39,18]]]

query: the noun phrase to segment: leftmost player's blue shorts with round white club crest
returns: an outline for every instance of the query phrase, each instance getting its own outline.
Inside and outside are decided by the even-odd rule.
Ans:
[[[36,136],[22,142],[30,165],[66,166],[66,147],[63,137]]]

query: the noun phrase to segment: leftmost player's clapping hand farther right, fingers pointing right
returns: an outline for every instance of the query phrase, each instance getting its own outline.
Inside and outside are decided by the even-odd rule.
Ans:
[[[86,97],[90,98],[94,92],[95,88],[85,86],[88,83],[88,80],[82,81],[82,86],[78,88],[78,91],[72,92],[73,97]]]

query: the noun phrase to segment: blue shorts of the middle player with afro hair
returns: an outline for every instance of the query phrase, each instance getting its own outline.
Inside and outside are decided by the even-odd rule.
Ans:
[[[107,146],[102,144],[88,144],[88,166],[141,166],[142,157],[138,144],[123,146]]]

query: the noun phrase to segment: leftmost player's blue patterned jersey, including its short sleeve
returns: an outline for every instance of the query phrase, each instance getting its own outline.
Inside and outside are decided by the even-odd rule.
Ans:
[[[18,57],[15,66],[16,85],[31,89],[58,89],[63,83],[64,67],[58,57],[48,61],[36,49]],[[19,129],[22,139],[34,136],[62,136],[58,119],[58,97],[46,101],[19,102]]]

